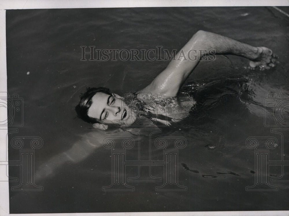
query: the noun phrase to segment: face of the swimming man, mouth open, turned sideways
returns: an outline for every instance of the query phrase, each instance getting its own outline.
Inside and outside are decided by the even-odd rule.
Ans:
[[[92,104],[88,109],[88,116],[96,118],[103,124],[131,125],[131,111],[128,106],[121,105],[121,97],[113,94],[97,92],[92,97]]]

